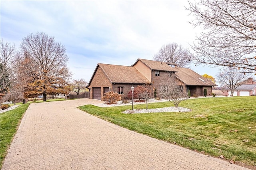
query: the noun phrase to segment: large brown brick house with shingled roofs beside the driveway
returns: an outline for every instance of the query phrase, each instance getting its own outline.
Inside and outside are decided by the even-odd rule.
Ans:
[[[191,69],[177,67],[177,64],[137,59],[132,66],[98,63],[87,87],[92,99],[100,100],[110,90],[119,93],[123,99],[132,86],[149,83],[158,91],[161,76],[166,75],[174,75],[179,85],[190,89],[191,95],[203,96],[204,89],[207,89],[207,95],[210,96],[212,86],[217,86]]]

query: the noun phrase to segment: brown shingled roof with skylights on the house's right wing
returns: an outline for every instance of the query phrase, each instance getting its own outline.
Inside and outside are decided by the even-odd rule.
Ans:
[[[200,86],[217,86],[212,81],[208,81],[202,75],[192,71],[188,68],[175,68],[178,73],[175,73],[176,77],[180,79],[186,85],[200,85]]]

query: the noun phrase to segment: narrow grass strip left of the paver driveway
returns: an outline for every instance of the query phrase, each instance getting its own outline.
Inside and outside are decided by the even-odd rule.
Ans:
[[[17,127],[29,104],[20,105],[16,109],[0,114],[0,168],[6,156],[8,147],[17,131]]]

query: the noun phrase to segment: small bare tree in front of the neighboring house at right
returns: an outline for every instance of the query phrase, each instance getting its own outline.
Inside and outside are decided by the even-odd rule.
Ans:
[[[226,69],[225,71],[218,73],[216,77],[219,83],[224,84],[228,89],[230,89],[230,96],[233,96],[234,89],[246,83],[245,80],[247,78],[244,73],[241,73],[236,69]]]

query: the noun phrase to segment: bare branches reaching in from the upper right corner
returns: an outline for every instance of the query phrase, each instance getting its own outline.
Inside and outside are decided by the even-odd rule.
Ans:
[[[203,30],[191,45],[197,63],[256,72],[255,0],[189,1],[187,10]]]

